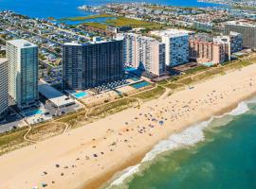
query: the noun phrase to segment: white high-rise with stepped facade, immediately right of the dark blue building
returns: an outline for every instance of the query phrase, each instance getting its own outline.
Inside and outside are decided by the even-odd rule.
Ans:
[[[123,58],[126,66],[140,68],[155,76],[165,74],[165,44],[135,33],[123,37]]]

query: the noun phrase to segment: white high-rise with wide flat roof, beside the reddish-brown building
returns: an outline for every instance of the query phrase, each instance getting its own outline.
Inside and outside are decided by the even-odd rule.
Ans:
[[[166,65],[173,67],[189,62],[189,35],[193,34],[193,32],[167,29],[152,31],[151,34],[162,38],[162,43],[165,43]]]

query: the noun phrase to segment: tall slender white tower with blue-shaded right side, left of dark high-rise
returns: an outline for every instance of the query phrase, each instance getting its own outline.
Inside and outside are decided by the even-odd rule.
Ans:
[[[38,46],[26,40],[7,42],[9,96],[19,108],[38,100]]]

